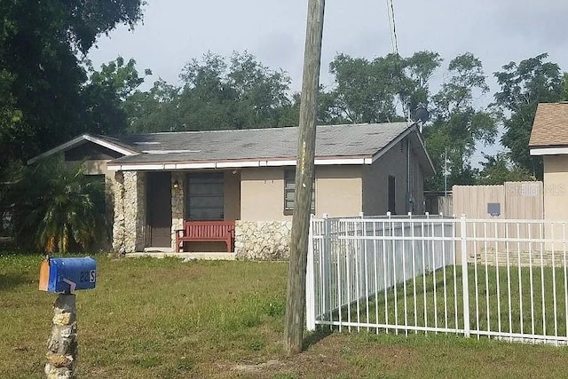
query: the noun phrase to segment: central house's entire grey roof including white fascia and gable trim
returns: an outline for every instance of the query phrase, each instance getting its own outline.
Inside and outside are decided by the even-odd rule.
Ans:
[[[109,170],[182,170],[292,166],[296,164],[297,127],[162,132],[113,138],[83,134],[36,156],[65,151],[85,141],[121,149],[121,158],[107,163]],[[434,172],[415,123],[361,123],[318,126],[316,164],[371,164],[412,134],[422,166]],[[112,147],[111,147],[112,146]]]

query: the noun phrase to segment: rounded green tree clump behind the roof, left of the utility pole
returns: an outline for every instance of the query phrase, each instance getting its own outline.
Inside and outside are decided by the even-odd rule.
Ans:
[[[297,119],[288,75],[246,51],[230,59],[209,52],[187,62],[180,78],[181,88],[158,80],[126,100],[130,132],[266,128]]]

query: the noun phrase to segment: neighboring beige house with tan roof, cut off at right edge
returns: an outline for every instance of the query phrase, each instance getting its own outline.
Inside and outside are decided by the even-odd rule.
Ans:
[[[529,141],[544,164],[544,218],[568,220],[568,103],[539,104]]]

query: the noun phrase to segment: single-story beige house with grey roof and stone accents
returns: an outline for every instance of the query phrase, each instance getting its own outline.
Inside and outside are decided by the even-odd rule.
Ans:
[[[184,220],[234,220],[238,256],[282,257],[294,209],[297,130],[83,134],[30,162],[63,152],[67,162],[85,160],[88,174],[104,176],[113,193],[113,247],[122,253],[175,249]],[[433,171],[415,123],[319,126],[312,212],[423,212],[423,178]]]

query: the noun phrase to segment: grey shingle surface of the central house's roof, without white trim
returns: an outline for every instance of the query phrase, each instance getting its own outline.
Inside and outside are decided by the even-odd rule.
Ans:
[[[409,129],[406,122],[330,125],[317,128],[316,157],[368,157]],[[122,136],[142,154],[112,162],[217,162],[296,159],[297,127],[185,131]]]

